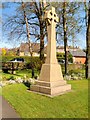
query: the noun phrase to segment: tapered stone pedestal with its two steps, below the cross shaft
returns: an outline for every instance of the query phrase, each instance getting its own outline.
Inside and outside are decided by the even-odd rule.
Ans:
[[[39,80],[35,81],[35,85],[31,85],[30,90],[47,96],[57,96],[70,91],[71,85],[63,80],[59,64],[44,64]]]

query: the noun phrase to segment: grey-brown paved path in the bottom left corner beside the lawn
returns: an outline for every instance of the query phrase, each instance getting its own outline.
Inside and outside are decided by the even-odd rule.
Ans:
[[[0,96],[0,118],[20,118],[12,106]]]

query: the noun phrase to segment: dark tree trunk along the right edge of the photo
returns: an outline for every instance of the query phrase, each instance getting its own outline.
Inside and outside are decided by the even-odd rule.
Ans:
[[[88,9],[88,23],[87,23],[87,33],[86,33],[86,78],[90,79],[90,1],[89,1],[89,9]]]

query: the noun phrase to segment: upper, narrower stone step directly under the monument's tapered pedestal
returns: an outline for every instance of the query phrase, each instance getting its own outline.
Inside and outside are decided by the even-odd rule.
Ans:
[[[65,85],[66,81],[65,80],[59,80],[55,82],[35,81],[35,84],[45,87],[57,87],[57,86]]]

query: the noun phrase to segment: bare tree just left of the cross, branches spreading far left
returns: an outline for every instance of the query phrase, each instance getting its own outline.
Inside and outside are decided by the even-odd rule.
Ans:
[[[46,25],[44,21],[44,7],[43,0],[36,2],[32,0],[32,2],[24,3],[24,14],[21,3],[17,4],[16,15],[9,17],[5,23],[5,30],[9,29],[8,35],[9,39],[21,39],[26,38],[27,31],[25,30],[25,25],[30,29],[28,34],[31,35],[34,39],[40,40],[40,59],[44,58],[44,36],[46,34]],[[24,15],[24,18],[23,18]],[[27,15],[27,20],[25,16]],[[27,22],[25,22],[27,21]],[[6,29],[7,28],[7,29]]]

